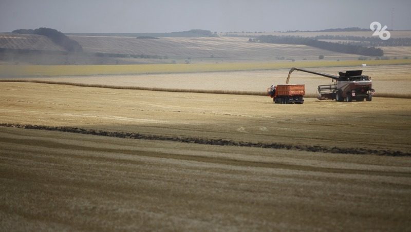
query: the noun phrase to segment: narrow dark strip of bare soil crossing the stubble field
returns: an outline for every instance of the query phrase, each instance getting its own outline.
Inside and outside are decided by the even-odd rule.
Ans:
[[[324,153],[339,153],[339,154],[375,154],[378,156],[394,156],[394,157],[411,157],[411,153],[393,150],[373,150],[364,148],[343,148],[343,147],[325,147],[325,146],[311,146],[311,145],[289,145],[281,143],[252,143],[252,142],[240,142],[223,139],[202,139],[202,138],[186,138],[186,137],[170,137],[170,136],[157,136],[154,134],[140,134],[133,132],[122,131],[103,131],[94,129],[84,129],[78,127],[67,126],[41,126],[41,125],[24,125],[15,123],[0,123],[3,127],[14,127],[34,130],[50,130],[71,132],[80,134],[92,134],[95,136],[107,136],[115,138],[127,138],[127,139],[139,139],[139,140],[160,140],[160,141],[175,141],[181,143],[196,143],[207,144],[217,146],[240,146],[240,147],[261,147],[261,148],[273,148],[273,149],[287,149],[297,151],[312,151],[312,152],[324,152]]]

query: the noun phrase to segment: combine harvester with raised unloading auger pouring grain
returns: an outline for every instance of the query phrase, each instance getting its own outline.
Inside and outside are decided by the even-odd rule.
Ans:
[[[294,70],[308,72],[315,75],[325,76],[331,78],[333,84],[319,85],[317,98],[319,100],[331,99],[338,102],[356,101],[371,101],[375,90],[372,88],[371,78],[367,75],[362,75],[363,70],[352,70],[346,72],[339,72],[339,76],[327,73],[314,72],[301,68],[291,68],[288,72],[286,84],[290,81],[291,72]],[[335,80],[335,82],[334,82]]]

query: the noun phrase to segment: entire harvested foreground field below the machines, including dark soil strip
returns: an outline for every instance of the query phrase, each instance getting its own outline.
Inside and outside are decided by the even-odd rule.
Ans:
[[[411,100],[0,85],[5,230],[409,230]]]

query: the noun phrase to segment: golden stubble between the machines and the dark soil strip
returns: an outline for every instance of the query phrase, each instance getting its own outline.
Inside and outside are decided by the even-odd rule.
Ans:
[[[4,82],[0,122],[409,151],[410,101],[278,105],[268,96]]]

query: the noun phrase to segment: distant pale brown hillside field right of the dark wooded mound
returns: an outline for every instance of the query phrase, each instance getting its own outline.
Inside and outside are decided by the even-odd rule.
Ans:
[[[327,57],[349,59],[356,55],[329,52],[305,45],[249,43],[240,37],[176,37],[159,39],[136,39],[135,37],[70,36],[88,52],[122,54],[154,54],[186,59],[210,59],[211,62],[289,59],[317,60],[320,54]],[[337,60],[337,59],[335,59]]]

